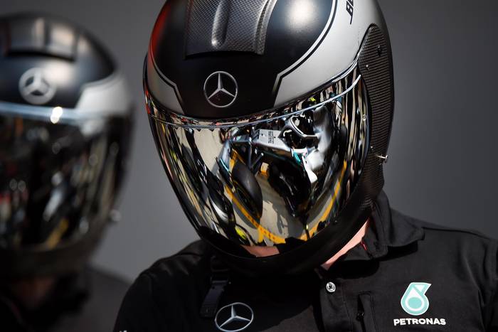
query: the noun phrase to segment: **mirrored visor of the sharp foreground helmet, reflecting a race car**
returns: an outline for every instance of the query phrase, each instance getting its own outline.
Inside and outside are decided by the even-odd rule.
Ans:
[[[299,245],[334,221],[361,176],[370,119],[356,65],[298,102],[243,119],[182,117],[146,94],[161,159],[201,234]]]

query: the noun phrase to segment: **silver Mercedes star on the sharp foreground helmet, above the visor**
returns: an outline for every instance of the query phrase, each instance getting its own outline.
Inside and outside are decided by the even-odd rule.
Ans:
[[[235,102],[238,85],[235,78],[226,72],[215,72],[204,82],[204,96],[214,107],[228,107]]]

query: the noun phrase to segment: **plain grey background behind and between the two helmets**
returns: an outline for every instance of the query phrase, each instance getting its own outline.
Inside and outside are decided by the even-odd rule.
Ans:
[[[339,0],[346,1],[346,0]],[[361,6],[361,1],[355,1]],[[498,237],[498,1],[380,0],[391,31],[396,115],[386,192],[398,210]],[[88,27],[112,50],[137,105],[122,221],[95,253],[134,279],[196,239],[149,132],[142,63],[164,0],[1,0],[0,14],[46,11]]]

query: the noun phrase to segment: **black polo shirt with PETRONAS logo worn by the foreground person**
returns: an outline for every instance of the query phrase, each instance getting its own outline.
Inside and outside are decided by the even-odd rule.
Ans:
[[[194,242],[140,274],[115,331],[498,331],[496,241],[409,218],[383,193],[371,220],[328,271],[232,273],[215,318],[199,314],[213,253]]]

